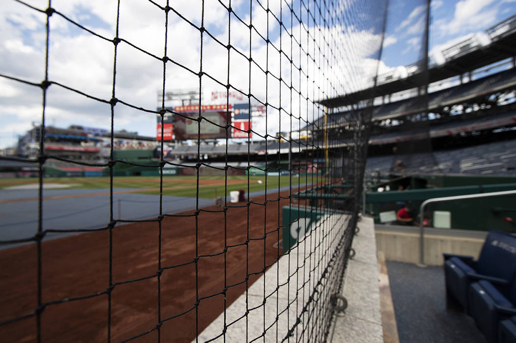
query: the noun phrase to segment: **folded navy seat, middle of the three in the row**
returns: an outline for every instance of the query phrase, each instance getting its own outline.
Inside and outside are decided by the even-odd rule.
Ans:
[[[470,313],[478,329],[488,342],[496,343],[499,323],[516,316],[516,282],[513,280],[510,287],[502,288],[486,280],[474,282],[470,285],[468,297]]]

